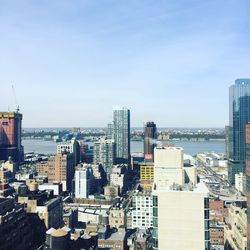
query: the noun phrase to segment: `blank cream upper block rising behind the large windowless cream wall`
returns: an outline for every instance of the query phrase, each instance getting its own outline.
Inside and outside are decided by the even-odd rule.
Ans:
[[[154,149],[154,184],[157,187],[183,185],[183,149],[179,147],[156,147]]]

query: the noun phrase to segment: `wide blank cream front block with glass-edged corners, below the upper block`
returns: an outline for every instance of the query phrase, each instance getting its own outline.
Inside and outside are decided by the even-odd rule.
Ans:
[[[204,183],[153,190],[154,249],[209,249],[208,192]]]

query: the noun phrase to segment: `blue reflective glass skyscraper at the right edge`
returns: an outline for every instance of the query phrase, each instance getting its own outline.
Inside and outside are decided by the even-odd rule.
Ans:
[[[246,133],[250,121],[250,79],[237,79],[229,88],[229,162],[228,181],[235,183],[235,174],[245,173]]]

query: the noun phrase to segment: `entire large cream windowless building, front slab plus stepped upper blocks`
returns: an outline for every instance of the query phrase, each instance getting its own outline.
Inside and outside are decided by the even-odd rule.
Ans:
[[[154,249],[210,249],[209,190],[196,185],[195,166],[185,170],[182,148],[154,152]]]

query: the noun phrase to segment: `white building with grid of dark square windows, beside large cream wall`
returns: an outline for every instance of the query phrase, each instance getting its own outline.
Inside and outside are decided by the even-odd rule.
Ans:
[[[132,199],[132,228],[153,227],[153,197],[149,193],[135,192]]]

